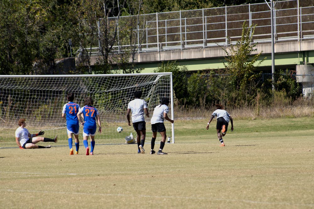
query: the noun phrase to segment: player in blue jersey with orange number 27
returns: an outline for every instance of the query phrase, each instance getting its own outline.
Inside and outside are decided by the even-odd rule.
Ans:
[[[78,119],[82,123],[83,127],[83,144],[86,148],[86,155],[89,155],[89,148],[87,139],[90,136],[90,154],[93,155],[95,147],[95,133],[96,133],[96,120],[99,125],[98,132],[101,133],[101,122],[99,118],[99,112],[95,107],[93,107],[94,102],[92,97],[86,97],[84,101],[84,107],[80,108],[78,111]],[[83,114],[84,122],[81,118]]]

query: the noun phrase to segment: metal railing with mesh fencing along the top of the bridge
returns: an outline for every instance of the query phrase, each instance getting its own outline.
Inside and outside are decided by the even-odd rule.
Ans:
[[[242,25],[256,25],[253,42],[271,42],[271,14],[268,4],[246,4],[219,8],[123,16],[119,18],[118,31],[130,18],[140,21],[131,31],[132,40],[138,53],[162,50],[183,50],[187,48],[207,48],[228,46],[241,38]],[[109,18],[109,21],[116,21]],[[101,22],[101,21],[99,21]],[[309,1],[277,1],[274,7],[274,42],[302,41],[314,39],[314,6]],[[142,26],[142,27],[140,27]],[[97,24],[101,36],[101,24]],[[86,47],[90,48],[90,47]],[[91,48],[92,54],[100,54],[100,42]],[[130,50],[134,45],[123,43],[120,36],[113,51]]]

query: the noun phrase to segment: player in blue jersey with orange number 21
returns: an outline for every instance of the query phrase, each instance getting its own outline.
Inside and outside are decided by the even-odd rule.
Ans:
[[[68,143],[69,143],[69,148],[70,148],[70,155],[74,154],[73,153],[73,134],[74,134],[74,139],[75,139],[75,154],[78,154],[78,148],[79,148],[79,140],[78,140],[78,117],[77,113],[78,110],[80,109],[80,106],[76,103],[73,102],[74,100],[74,94],[69,93],[68,94],[68,103],[63,105],[62,109],[62,118],[66,119],[67,121],[67,132],[68,132]]]

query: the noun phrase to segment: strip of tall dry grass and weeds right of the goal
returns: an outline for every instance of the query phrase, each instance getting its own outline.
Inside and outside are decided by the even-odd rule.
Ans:
[[[256,104],[246,107],[225,107],[233,119],[254,120],[257,118],[298,118],[314,117],[314,98],[299,97],[293,101],[284,92],[275,92],[273,101],[269,105],[260,100],[257,94]],[[214,112],[215,107],[174,107],[175,119],[208,119]]]

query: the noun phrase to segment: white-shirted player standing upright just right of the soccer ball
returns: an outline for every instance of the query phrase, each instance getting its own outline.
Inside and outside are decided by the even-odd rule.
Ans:
[[[144,143],[146,138],[146,122],[144,113],[147,117],[149,117],[149,112],[147,109],[147,103],[141,99],[142,91],[135,91],[134,97],[135,99],[127,104],[127,122],[130,126],[130,113],[132,112],[133,128],[137,134],[136,141],[138,144],[138,153],[144,154]]]

